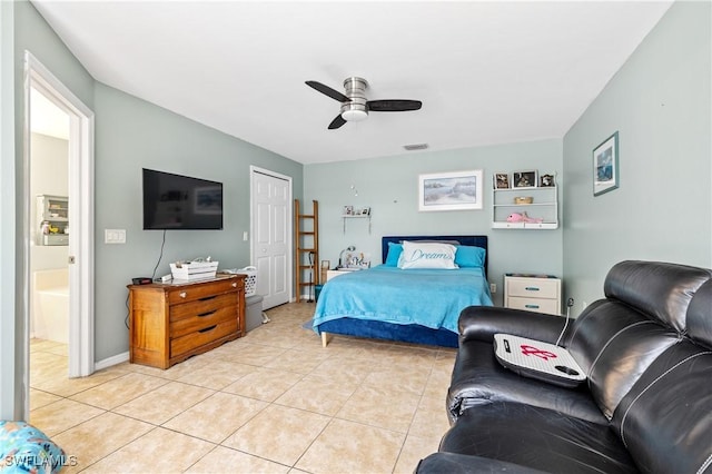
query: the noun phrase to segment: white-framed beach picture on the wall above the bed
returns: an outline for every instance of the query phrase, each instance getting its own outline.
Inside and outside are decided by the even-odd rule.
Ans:
[[[418,177],[418,210],[482,209],[482,169]]]

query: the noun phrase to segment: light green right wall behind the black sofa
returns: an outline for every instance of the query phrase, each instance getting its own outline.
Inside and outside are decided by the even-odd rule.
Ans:
[[[623,259],[712,267],[710,2],[676,2],[564,137],[564,275],[583,303]],[[620,188],[592,150],[620,134]]]

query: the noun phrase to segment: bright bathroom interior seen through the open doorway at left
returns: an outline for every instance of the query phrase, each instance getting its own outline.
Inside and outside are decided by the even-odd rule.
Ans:
[[[30,387],[46,393],[69,375],[69,115],[30,87]]]

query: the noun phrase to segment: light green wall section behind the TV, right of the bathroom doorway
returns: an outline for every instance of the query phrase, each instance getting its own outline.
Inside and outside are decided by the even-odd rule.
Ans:
[[[169,230],[156,276],[177,259],[210,255],[222,268],[249,265],[249,166],[293,178],[303,166],[102,83],[96,85],[96,358],[128,350],[126,285],[151,276],[162,231],[142,230],[141,168],[224,182],[224,230]],[[126,244],[105,244],[105,229],[126,229]]]

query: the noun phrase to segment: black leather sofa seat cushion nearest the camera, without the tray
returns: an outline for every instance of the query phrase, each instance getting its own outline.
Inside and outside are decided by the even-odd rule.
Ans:
[[[466,411],[445,434],[439,451],[551,473],[639,472],[609,426],[510,402]]]

